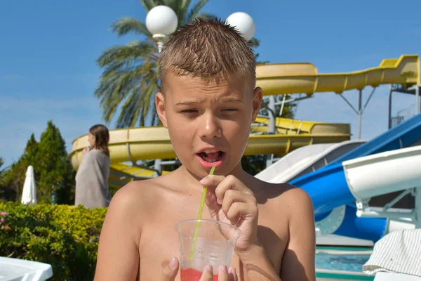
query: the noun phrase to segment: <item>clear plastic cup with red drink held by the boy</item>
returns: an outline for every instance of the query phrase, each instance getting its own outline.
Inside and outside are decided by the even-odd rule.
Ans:
[[[194,230],[199,232],[194,242]],[[235,243],[241,230],[228,223],[206,219],[180,221],[175,225],[180,238],[181,281],[198,281],[204,268],[213,267],[213,280],[218,280],[219,267],[231,264]],[[190,252],[194,247],[194,254]]]

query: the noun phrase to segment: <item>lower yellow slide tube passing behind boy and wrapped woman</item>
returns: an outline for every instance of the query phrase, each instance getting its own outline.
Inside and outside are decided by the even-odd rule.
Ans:
[[[252,131],[267,131],[268,120],[259,117],[252,126]],[[278,154],[288,152],[315,143],[338,143],[349,140],[349,124],[327,124],[284,118],[276,119],[276,129],[288,134],[252,135],[246,147],[246,155]],[[147,159],[175,158],[168,130],[163,127],[142,127],[116,129],[109,131],[109,152],[111,157],[110,185],[122,185],[131,178],[151,178],[155,172],[140,166],[125,164]],[[88,146],[88,136],[84,135],[72,143],[69,157],[74,169],[79,168],[83,157],[82,150]],[[116,175],[114,176],[113,173]],[[163,172],[165,174],[165,171]],[[126,176],[125,176],[126,175]]]

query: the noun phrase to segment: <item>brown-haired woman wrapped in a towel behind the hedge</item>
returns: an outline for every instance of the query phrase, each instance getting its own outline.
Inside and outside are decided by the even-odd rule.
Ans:
[[[83,159],[76,173],[74,205],[86,208],[108,207],[109,195],[109,132],[98,124],[89,129],[89,148],[83,150]]]

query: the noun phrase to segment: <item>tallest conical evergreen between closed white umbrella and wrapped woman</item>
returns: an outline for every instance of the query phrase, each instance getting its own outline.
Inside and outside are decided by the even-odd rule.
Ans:
[[[74,170],[67,155],[65,141],[51,120],[41,133],[36,159],[34,170],[39,174],[38,202],[51,203],[52,195],[55,195],[55,203],[73,204]]]

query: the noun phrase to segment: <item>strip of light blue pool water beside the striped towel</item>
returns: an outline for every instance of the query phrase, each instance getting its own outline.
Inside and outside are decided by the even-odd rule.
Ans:
[[[316,268],[326,270],[343,270],[362,273],[363,265],[368,261],[367,254],[316,254]]]

